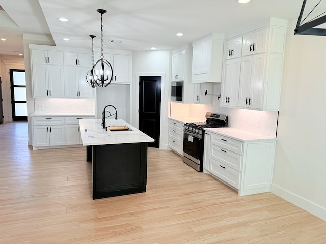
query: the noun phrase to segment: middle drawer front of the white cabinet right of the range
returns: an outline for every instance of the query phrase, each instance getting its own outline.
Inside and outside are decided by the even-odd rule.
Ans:
[[[210,148],[210,157],[212,159],[221,162],[236,171],[242,171],[242,155],[213,144],[210,146]]]

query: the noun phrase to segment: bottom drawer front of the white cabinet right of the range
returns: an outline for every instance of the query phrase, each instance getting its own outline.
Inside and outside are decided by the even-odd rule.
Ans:
[[[239,190],[240,173],[214,159],[210,159],[209,172]]]

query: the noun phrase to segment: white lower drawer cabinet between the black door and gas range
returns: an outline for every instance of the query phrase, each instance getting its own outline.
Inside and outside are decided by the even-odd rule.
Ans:
[[[183,123],[169,118],[168,145],[176,153],[182,155],[183,151]]]

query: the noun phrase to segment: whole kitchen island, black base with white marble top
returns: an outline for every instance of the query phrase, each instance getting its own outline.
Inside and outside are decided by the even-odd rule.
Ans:
[[[79,120],[87,159],[92,160],[93,199],[146,191],[147,143],[154,139],[122,119],[106,120],[107,131],[100,119]],[[126,130],[116,130],[126,126]]]

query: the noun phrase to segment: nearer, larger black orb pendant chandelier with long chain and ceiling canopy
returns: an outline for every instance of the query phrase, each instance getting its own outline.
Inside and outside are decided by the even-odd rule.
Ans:
[[[101,14],[101,57],[94,64],[91,75],[97,86],[106,87],[111,83],[113,77],[112,65],[103,56],[103,14],[106,13],[106,10],[98,9],[97,12]]]

